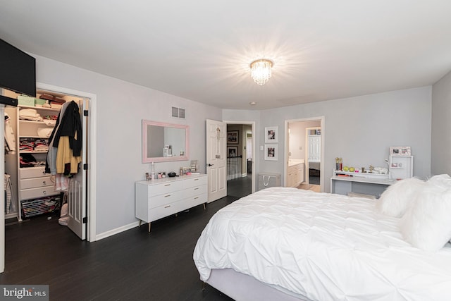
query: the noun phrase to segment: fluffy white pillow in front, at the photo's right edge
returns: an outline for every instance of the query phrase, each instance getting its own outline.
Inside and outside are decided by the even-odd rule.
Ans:
[[[417,195],[402,216],[400,231],[404,240],[426,251],[440,250],[451,238],[451,189],[430,186]]]

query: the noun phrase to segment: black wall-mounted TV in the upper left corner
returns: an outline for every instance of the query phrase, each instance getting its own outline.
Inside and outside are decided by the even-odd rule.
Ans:
[[[36,59],[0,39],[0,87],[36,96]]]

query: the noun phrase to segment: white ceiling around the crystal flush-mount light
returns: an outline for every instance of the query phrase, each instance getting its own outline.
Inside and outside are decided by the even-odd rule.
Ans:
[[[0,38],[196,102],[269,109],[437,82],[451,1],[0,0]],[[274,62],[264,86],[249,74],[259,58]]]

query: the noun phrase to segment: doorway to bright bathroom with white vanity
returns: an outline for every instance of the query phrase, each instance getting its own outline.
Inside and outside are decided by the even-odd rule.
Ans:
[[[285,121],[285,186],[323,191],[324,117]]]

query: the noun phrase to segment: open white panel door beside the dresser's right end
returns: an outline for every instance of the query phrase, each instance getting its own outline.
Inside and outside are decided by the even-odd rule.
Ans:
[[[206,175],[208,176],[208,202],[227,195],[227,124],[206,120]]]

